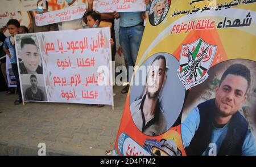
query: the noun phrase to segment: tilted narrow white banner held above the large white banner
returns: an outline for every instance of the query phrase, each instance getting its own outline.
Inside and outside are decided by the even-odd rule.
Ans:
[[[82,18],[82,16],[84,16],[85,11],[86,5],[67,7],[61,10],[55,10],[43,14],[36,14],[35,22],[37,26],[43,26],[59,22],[67,22]]]

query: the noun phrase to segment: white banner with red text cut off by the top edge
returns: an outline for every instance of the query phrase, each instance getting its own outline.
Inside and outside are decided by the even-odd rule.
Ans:
[[[93,10],[104,13],[146,11],[146,5],[144,0],[96,0],[93,1]]]

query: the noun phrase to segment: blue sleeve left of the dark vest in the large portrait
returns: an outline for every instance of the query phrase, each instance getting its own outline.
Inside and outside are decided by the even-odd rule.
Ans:
[[[181,136],[182,142],[185,147],[190,144],[195,132],[197,131],[200,123],[199,109],[193,108],[188,114],[188,117],[181,123]]]

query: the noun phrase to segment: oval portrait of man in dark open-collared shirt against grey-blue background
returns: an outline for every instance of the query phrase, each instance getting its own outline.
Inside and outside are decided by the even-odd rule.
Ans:
[[[135,72],[130,89],[130,112],[139,131],[158,136],[180,124],[185,88],[176,75],[177,59],[156,53]]]

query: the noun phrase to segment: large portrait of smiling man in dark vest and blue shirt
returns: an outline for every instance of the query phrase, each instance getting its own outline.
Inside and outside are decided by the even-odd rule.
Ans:
[[[187,155],[256,155],[256,63],[231,59],[208,71],[184,102]]]

